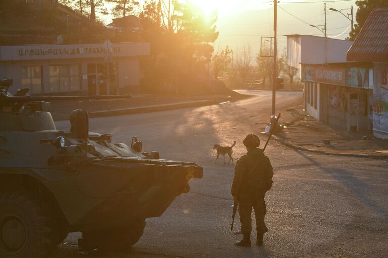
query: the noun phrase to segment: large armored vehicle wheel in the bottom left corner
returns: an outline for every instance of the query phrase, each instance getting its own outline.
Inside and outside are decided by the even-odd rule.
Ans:
[[[43,205],[15,191],[0,196],[0,257],[43,258],[53,250],[50,216]]]

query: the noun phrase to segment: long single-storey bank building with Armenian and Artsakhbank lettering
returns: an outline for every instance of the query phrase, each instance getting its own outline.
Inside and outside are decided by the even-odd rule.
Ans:
[[[0,46],[0,78],[12,78],[11,92],[30,88],[33,95],[134,93],[140,91],[139,58],[150,44]],[[110,80],[102,75],[110,63]],[[109,89],[107,88],[109,85]]]

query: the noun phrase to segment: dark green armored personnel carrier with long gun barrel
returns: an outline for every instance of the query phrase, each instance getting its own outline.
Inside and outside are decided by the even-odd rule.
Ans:
[[[89,132],[88,113],[74,110],[70,132],[56,129],[47,101],[126,96],[12,95],[0,81],[0,257],[47,257],[69,232],[81,248],[125,250],[146,218],[163,214],[188,181],[202,178],[195,163],[142,152],[142,142],[115,143]]]

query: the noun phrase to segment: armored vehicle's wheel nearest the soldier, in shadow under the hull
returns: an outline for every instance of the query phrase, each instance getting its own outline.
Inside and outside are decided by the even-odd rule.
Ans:
[[[96,248],[101,251],[125,251],[140,240],[144,228],[146,219],[137,220],[130,227],[83,232],[80,247]]]

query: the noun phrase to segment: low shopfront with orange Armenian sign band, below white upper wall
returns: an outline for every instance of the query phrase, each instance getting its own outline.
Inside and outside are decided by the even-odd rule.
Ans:
[[[347,131],[371,130],[370,63],[302,64],[305,109],[315,119]]]

